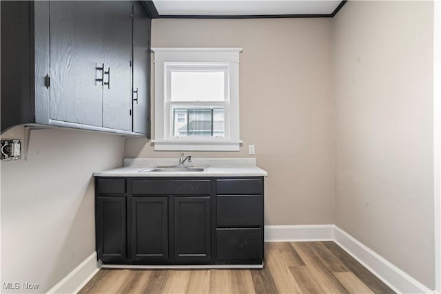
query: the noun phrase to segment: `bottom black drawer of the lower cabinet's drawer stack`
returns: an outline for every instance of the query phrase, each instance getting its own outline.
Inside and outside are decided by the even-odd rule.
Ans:
[[[218,260],[254,260],[263,258],[262,230],[216,229]]]

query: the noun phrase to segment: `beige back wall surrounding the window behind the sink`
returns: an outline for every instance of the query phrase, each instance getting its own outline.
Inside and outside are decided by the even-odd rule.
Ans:
[[[331,19],[155,19],[153,47],[242,47],[240,152],[256,145],[265,180],[265,224],[334,223]],[[153,84],[153,83],[152,83]],[[126,157],[176,157],[127,139]]]

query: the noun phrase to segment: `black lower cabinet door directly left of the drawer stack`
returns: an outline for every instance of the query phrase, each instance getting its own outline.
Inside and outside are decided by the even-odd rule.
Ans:
[[[174,197],[175,260],[209,260],[210,198]]]

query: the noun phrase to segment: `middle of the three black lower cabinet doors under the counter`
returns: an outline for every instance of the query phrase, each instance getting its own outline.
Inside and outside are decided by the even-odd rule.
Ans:
[[[168,198],[132,198],[132,260],[167,260]]]

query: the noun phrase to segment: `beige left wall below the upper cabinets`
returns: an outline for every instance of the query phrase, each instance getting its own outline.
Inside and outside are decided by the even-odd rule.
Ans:
[[[23,139],[23,127],[1,137]],[[95,251],[92,173],[122,158],[121,136],[41,129],[27,161],[1,162],[1,286],[37,283],[46,293]]]

